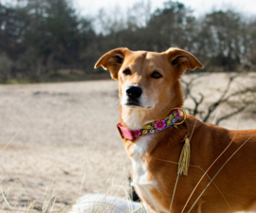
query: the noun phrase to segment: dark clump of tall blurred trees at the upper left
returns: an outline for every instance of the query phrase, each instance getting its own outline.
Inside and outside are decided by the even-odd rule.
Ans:
[[[90,20],[79,18],[67,0],[1,5],[0,24],[0,47],[14,62],[14,78],[39,80],[59,69],[82,68],[81,51],[96,38]]]

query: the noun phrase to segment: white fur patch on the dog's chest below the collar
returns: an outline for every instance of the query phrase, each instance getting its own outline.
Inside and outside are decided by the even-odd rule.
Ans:
[[[153,142],[155,135],[140,137],[130,150],[131,160],[134,170],[133,184],[137,189],[140,199],[150,204],[157,212],[168,212],[161,204],[154,199],[153,189],[157,189],[157,183],[149,180],[149,171],[147,162],[142,157],[148,151],[150,143]]]

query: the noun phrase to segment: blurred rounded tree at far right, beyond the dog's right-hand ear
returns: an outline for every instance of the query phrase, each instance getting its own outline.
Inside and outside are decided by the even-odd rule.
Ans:
[[[234,71],[246,56],[246,24],[231,10],[207,14],[198,35],[198,52],[211,67]],[[200,41],[199,41],[200,40]]]

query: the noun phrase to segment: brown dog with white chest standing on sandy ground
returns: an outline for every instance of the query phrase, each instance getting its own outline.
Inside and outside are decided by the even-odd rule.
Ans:
[[[144,202],[155,212],[256,212],[256,130],[229,131],[188,115],[184,123],[154,132],[166,126],[163,118],[183,104],[180,76],[186,69],[203,67],[191,53],[178,48],[161,53],[117,48],[104,54],[95,67],[100,65],[119,81],[119,128],[124,128],[134,184]],[[152,122],[153,134],[137,132]],[[191,144],[189,173],[177,175],[186,137]]]

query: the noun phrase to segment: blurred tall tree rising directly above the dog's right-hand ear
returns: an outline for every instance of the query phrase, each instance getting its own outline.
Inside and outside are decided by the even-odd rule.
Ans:
[[[192,48],[195,18],[192,9],[179,2],[168,1],[163,9],[156,9],[147,26],[155,51],[166,50],[170,46],[183,49]]]

